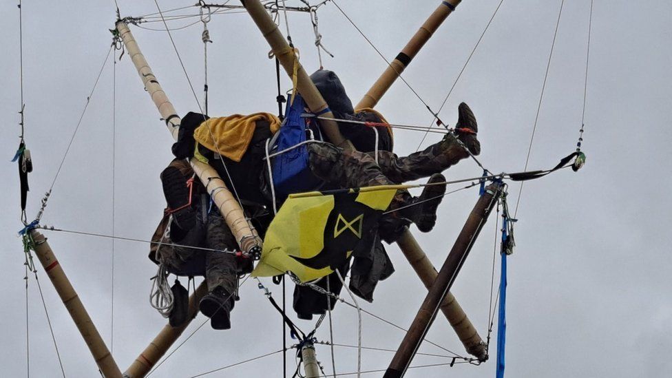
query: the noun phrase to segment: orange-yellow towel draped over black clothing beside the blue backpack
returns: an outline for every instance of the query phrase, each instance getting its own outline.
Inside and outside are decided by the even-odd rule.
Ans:
[[[196,127],[193,138],[207,149],[219,151],[223,156],[239,162],[250,145],[256,121],[264,119],[271,124],[271,133],[275,134],[280,129],[280,119],[270,113],[255,113],[249,116],[233,114],[205,120]]]

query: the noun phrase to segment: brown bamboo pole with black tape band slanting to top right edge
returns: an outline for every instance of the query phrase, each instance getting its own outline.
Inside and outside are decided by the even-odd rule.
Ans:
[[[430,17],[422,24],[420,29],[412,36],[406,46],[401,49],[397,57],[386,67],[385,72],[378,78],[378,80],[366,92],[364,98],[359,101],[355,109],[362,109],[364,107],[375,107],[380,101],[380,98],[387,92],[392,83],[394,83],[401,72],[406,69],[410,61],[430,39],[432,34],[439,29],[441,23],[448,18],[448,16],[455,10],[456,6],[462,0],[448,0],[442,1],[439,7],[434,10]]]

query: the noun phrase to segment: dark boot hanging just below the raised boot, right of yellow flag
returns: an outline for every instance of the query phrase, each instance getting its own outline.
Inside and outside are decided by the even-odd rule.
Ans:
[[[413,197],[399,204],[402,208],[399,215],[415,223],[421,232],[429,232],[437,223],[437,208],[445,193],[445,177],[442,174],[433,174],[428,184],[443,182],[439,185],[429,185],[423,189],[419,197]]]

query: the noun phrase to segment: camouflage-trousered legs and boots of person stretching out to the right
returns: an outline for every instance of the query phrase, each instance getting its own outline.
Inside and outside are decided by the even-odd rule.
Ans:
[[[436,223],[437,207],[441,203],[446,185],[441,171],[455,165],[459,160],[471,154],[478,155],[481,145],[476,139],[478,127],[476,118],[467,104],[459,105],[459,120],[456,135],[447,134],[439,143],[409,156],[399,157],[392,151],[346,151],[330,143],[311,143],[308,145],[308,163],[315,176],[339,187],[365,187],[377,185],[395,185],[402,182],[430,177],[421,196],[412,197],[406,190],[397,191],[390,204],[390,210],[399,209],[393,218],[408,220],[422,232],[429,232]],[[382,223],[389,224],[393,231],[387,232],[384,239],[396,240],[403,230],[403,222],[384,217]],[[382,230],[386,229],[385,227]],[[385,232],[384,232],[385,233]]]

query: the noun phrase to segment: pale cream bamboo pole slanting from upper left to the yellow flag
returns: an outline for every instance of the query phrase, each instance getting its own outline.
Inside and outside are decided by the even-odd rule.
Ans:
[[[116,30],[118,30],[133,64],[138,70],[145,89],[149,93],[149,96],[151,96],[151,100],[154,101],[154,105],[156,105],[161,117],[165,120],[168,131],[173,136],[173,139],[177,140],[182,119],[177,115],[168,96],[156,80],[156,76],[151,72],[149,63],[147,63],[143,53],[140,52],[140,47],[135,41],[131,30],[129,30],[128,25],[124,21],[117,21]],[[224,185],[224,181],[217,174],[217,171],[210,165],[194,158],[190,162],[196,176],[200,178],[207,192],[211,193],[213,202],[217,205],[222,216],[224,216],[224,221],[227,222],[235,239],[238,241],[241,251],[253,255],[261,253],[261,238],[259,238],[257,231],[246,220],[240,204],[235,200],[226,185]]]

